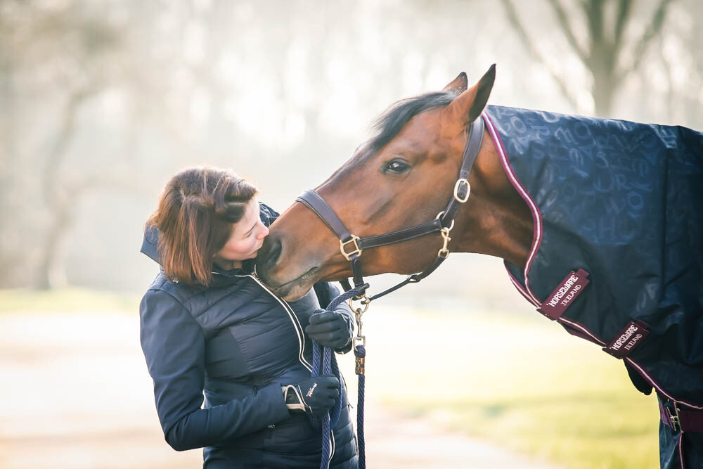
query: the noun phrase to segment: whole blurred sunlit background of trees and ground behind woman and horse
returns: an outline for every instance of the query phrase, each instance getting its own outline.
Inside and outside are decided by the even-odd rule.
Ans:
[[[137,330],[138,299],[157,272],[138,253],[143,223],[177,170],[231,167],[282,211],[342,165],[394,101],[462,71],[475,82],[492,63],[492,104],[703,129],[701,44],[697,0],[0,0],[0,360],[15,373],[0,378],[0,467],[57,467],[62,454],[66,467],[181,461],[153,432]],[[513,290],[500,259],[454,254],[379,302],[367,321],[388,367],[380,408],[565,467],[658,467],[655,402]],[[515,347],[477,348],[506,330]],[[436,346],[432,356],[413,356],[418,342]],[[99,361],[86,357],[105,353],[122,366],[98,379],[88,370]],[[61,356],[73,373],[57,372]],[[415,380],[408,364],[418,362],[437,380]],[[414,386],[401,399],[404,379]],[[108,397],[120,435],[150,432],[99,439],[121,441],[114,454],[90,435],[110,420],[99,417]],[[93,420],[62,420],[86,405]],[[623,411],[631,405],[640,407]],[[158,456],[128,463],[120,451],[144,441]],[[628,459],[633,445],[643,460]]]

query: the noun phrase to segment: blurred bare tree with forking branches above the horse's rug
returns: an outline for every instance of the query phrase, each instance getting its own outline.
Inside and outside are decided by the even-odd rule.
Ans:
[[[626,30],[629,25],[636,23],[633,15],[635,2],[632,0],[581,0],[575,2],[576,6],[571,9],[565,8],[561,0],[548,0],[563,37],[593,77],[591,94],[595,115],[610,117],[618,89],[628,75],[639,70],[647,49],[662,32],[671,1],[657,0],[643,32],[633,39],[632,44],[627,44]],[[563,73],[546,58],[546,51],[541,51],[528,33],[531,26],[522,20],[512,0],[502,2],[508,21],[515,28],[527,52],[546,67],[574,109],[579,108],[572,86],[569,86]],[[576,25],[585,29],[585,37],[578,37],[579,28]],[[544,32],[541,29],[538,33]]]

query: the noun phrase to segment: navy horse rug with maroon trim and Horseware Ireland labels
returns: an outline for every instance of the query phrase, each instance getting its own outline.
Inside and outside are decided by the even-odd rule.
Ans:
[[[484,120],[534,219],[525,269],[505,263],[517,289],[699,415],[703,134],[501,106]]]

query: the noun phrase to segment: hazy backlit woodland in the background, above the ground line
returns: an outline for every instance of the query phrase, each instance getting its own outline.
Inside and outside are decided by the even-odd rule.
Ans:
[[[571,109],[489,0],[0,0],[0,287],[141,290],[138,237],[179,167],[233,167],[283,208],[387,105],[494,62],[495,103],[569,112],[598,86],[619,113],[700,121],[699,1],[504,3]],[[596,83],[581,56],[614,66]]]

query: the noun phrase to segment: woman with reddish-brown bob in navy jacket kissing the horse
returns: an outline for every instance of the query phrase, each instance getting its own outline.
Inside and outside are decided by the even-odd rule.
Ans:
[[[313,314],[337,295],[328,283],[288,304],[259,282],[253,260],[278,214],[256,193],[233,172],[186,169],[147,221],[142,252],[161,272],[141,301],[141,345],[164,435],[177,451],[204,447],[204,468],[315,468],[307,414],[339,396],[330,468],[356,468],[344,383],[310,376],[311,339],[348,352],[352,313]]]

